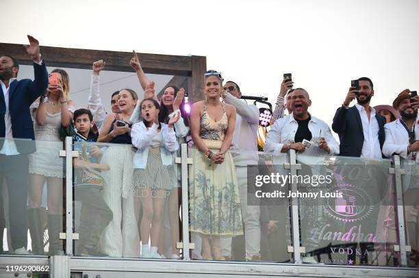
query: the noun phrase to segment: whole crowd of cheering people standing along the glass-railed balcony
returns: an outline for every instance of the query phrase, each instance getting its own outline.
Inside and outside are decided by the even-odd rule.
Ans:
[[[47,72],[38,40],[28,38],[25,48],[34,61],[33,81],[16,79],[18,61],[7,53],[0,57],[0,184],[7,185],[2,195],[8,194],[0,198],[0,230],[8,199],[14,253],[28,253],[28,228],[32,253],[45,253],[41,225],[45,184],[48,252],[62,253],[59,234],[66,176],[64,158],[58,154],[63,138],[72,136],[73,148],[79,152],[74,160],[75,201],[81,204],[76,253],[180,258],[176,243],[181,241],[181,170],[175,157],[190,135],[193,163],[188,199],[194,258],[230,260],[233,239],[244,234],[245,260],[288,260],[283,234],[279,233],[283,244],[266,244],[272,234],[285,233],[285,223],[270,217],[262,206],[247,204],[248,175],[260,171],[256,153],[259,109],[240,100],[238,83],[224,82],[220,72],[207,71],[204,100],[195,102],[188,114],[185,89],[168,85],[157,99],[155,83],[144,74],[133,52],[129,64],[142,92],[129,88],[114,92],[112,112],[107,113],[99,90],[105,61],[94,61],[88,105],[76,109],[66,71]],[[405,163],[416,165],[419,97],[405,89],[392,106],[373,108],[371,79],[361,77],[357,83],[348,89],[333,118],[331,129],[339,143],[328,124],[309,113],[309,92],[294,88],[294,82],[284,78],[264,151],[304,153],[305,141],[312,141],[325,155],[389,158],[398,154]],[[410,184],[405,218],[409,244],[417,253],[419,189],[416,181]],[[264,249],[271,249],[270,255],[264,255]],[[275,249],[283,251],[275,255]]]

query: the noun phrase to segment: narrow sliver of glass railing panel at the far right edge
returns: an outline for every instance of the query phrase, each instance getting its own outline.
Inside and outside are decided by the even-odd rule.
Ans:
[[[419,267],[419,165],[418,162],[401,158],[405,174],[401,176],[403,191],[403,208],[405,215],[407,266]]]

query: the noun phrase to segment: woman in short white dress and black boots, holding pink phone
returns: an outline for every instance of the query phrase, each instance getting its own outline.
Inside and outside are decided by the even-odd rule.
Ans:
[[[45,95],[31,105],[34,117],[36,152],[29,155],[29,230],[32,251],[42,254],[44,229],[41,227],[41,201],[45,182],[48,193],[49,253],[62,253],[59,234],[62,231],[62,182],[64,158],[58,156],[63,145],[60,127],[68,126],[73,119],[73,107],[69,98],[70,79],[66,71],[53,70]]]

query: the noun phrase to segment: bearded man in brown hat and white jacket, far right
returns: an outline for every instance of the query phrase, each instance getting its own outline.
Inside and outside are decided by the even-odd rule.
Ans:
[[[419,138],[415,135],[415,130],[419,129],[418,105],[419,97],[414,97],[411,102],[410,91],[405,89],[398,94],[393,102],[394,109],[398,110],[401,117],[394,122],[385,124],[385,142],[383,154],[392,156],[398,154],[402,157],[403,169],[403,199],[405,204],[405,220],[408,235],[408,245],[411,246],[410,262],[412,266],[417,266],[418,258],[418,214],[419,214],[419,186],[418,186],[418,151]],[[394,219],[393,217],[390,217]]]

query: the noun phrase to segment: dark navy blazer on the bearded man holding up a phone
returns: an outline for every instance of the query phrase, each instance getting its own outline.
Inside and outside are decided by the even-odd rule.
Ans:
[[[383,150],[385,117],[376,113],[375,118],[379,124],[380,149]],[[335,117],[333,117],[332,129],[339,135],[340,156],[361,156],[362,145],[364,145],[364,129],[362,128],[361,115],[359,115],[357,107],[353,106],[349,109],[338,108]],[[383,156],[382,153],[381,156]]]

